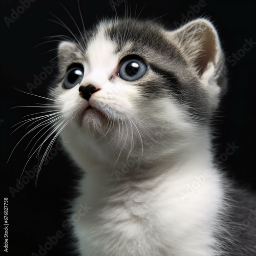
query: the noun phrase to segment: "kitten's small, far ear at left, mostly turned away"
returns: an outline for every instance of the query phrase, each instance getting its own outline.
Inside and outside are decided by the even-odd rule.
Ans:
[[[61,66],[63,63],[67,62],[67,59],[72,59],[75,55],[77,46],[74,42],[62,41],[58,45],[58,62]]]

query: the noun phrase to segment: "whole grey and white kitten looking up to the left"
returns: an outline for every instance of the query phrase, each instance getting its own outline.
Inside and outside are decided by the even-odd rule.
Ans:
[[[80,254],[255,256],[255,196],[213,163],[227,80],[212,24],[104,20],[58,56],[58,131],[84,173],[72,207]]]

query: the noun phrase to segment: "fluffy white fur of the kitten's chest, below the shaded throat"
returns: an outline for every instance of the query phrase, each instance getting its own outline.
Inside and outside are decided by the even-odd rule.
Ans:
[[[80,149],[76,150],[78,158]],[[82,195],[76,200],[74,213],[80,203],[92,207],[75,226],[81,255],[215,255],[212,231],[219,226],[216,215],[221,209],[221,180],[209,164],[209,150],[203,147],[193,158],[180,159],[184,163],[168,169],[153,167],[150,172],[159,173],[159,177],[121,184],[113,180],[108,159],[91,164],[84,156],[77,159],[90,172],[80,182]],[[205,170],[210,177],[183,201],[186,184],[191,185]]]

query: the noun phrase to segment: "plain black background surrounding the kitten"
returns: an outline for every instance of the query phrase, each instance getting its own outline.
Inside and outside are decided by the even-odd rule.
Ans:
[[[124,1],[116,2],[116,11],[122,16],[125,11]],[[119,3],[118,3],[119,2]],[[128,1],[128,8],[132,9],[132,15],[142,10],[140,17],[161,17],[164,23],[184,22],[184,16],[206,16],[217,27],[222,46],[228,58],[232,53],[243,49],[245,39],[256,41],[255,1],[214,1],[205,0],[206,5],[200,8],[197,15],[191,12],[191,6],[198,5],[200,1]],[[61,150],[57,151],[49,163],[44,166],[38,178],[38,187],[35,178],[30,179],[24,188],[10,193],[10,187],[16,188],[17,180],[27,162],[28,153],[24,152],[31,136],[26,137],[16,147],[10,161],[6,161],[16,143],[25,135],[24,126],[14,134],[11,126],[23,120],[23,116],[34,113],[35,109],[16,108],[13,106],[35,105],[35,102],[43,103],[44,100],[14,89],[29,92],[27,83],[33,83],[34,75],[42,72],[42,66],[49,66],[49,61],[56,56],[56,51],[47,51],[56,48],[56,42],[47,41],[45,36],[69,35],[67,30],[47,19],[54,19],[52,12],[65,22],[70,29],[78,34],[69,14],[60,5],[62,3],[72,14],[78,26],[82,23],[78,12],[77,1],[49,1],[36,0],[23,14],[10,23],[9,28],[4,17],[11,17],[12,8],[16,10],[19,1],[1,1],[1,177],[3,181],[3,201],[9,199],[9,254],[31,255],[38,253],[39,245],[44,246],[47,237],[55,236],[58,230],[64,231],[61,223],[65,220],[63,209],[67,208],[67,200],[73,197],[73,184],[76,175],[71,163]],[[90,28],[101,17],[114,17],[110,1],[82,1],[81,12],[86,28]],[[197,8],[196,8],[197,9]],[[190,11],[190,12],[189,12]],[[188,13],[189,12],[189,13]],[[189,16],[190,15],[190,16]],[[222,156],[220,165],[231,179],[236,180],[244,187],[256,190],[255,158],[255,53],[256,46],[246,52],[245,56],[234,62],[229,61],[229,91],[223,98],[222,108],[218,112],[215,127],[218,129],[216,143],[216,157]],[[230,60],[230,58],[229,58]],[[55,70],[54,70],[55,71]],[[47,79],[33,89],[33,93],[40,96],[47,95],[47,85],[52,80],[54,72]],[[37,111],[38,112],[38,111]],[[234,143],[239,148],[225,158],[227,143]],[[31,147],[29,147],[31,149]],[[219,159],[220,163],[220,159]],[[26,170],[33,169],[37,164],[33,157]],[[3,202],[4,204],[4,202]],[[2,240],[1,240],[2,241]],[[4,239],[3,239],[4,242]],[[59,239],[47,251],[47,255],[68,255],[70,236]],[[3,245],[3,243],[2,243]]]

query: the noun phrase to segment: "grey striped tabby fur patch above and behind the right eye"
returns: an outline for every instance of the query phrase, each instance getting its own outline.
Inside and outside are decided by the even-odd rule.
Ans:
[[[143,88],[143,96],[155,99],[172,95],[194,120],[209,121],[211,112],[207,94],[202,90],[200,80],[189,70],[180,50],[164,36],[162,27],[153,22],[119,20],[106,30],[106,36],[115,42],[118,52],[132,43],[126,55],[144,58],[158,75],[146,84],[136,81],[135,84]]]

